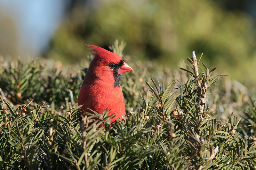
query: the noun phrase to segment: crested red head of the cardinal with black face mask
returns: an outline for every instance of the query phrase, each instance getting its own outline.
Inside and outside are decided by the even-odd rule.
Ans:
[[[119,87],[121,74],[132,71],[132,67],[125,63],[124,59],[115,53],[94,45],[87,46],[91,48],[91,51],[94,54],[94,58],[88,71],[90,70],[94,72],[100,79],[114,81],[114,86]]]

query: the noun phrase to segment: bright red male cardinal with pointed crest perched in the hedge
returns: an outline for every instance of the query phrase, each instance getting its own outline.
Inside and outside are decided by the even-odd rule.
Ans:
[[[110,122],[114,122],[117,118],[122,120],[126,111],[119,81],[121,75],[132,71],[132,68],[115,53],[94,45],[87,46],[91,48],[94,58],[78,95],[78,106],[83,105],[80,111],[90,108],[102,114],[108,109],[108,116],[114,114]]]

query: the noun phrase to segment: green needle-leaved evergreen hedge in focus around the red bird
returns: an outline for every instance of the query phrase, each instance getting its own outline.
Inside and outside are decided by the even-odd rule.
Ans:
[[[122,54],[124,46],[116,41],[111,48]],[[82,69],[62,74],[40,59],[2,65],[0,169],[255,169],[255,102],[242,126],[234,113],[225,123],[214,118],[207,101],[221,75],[200,67],[200,59],[193,52],[181,68],[186,82],[166,86],[170,75],[150,79],[139,67],[133,78],[124,76],[124,96],[134,111],[113,123],[107,111],[80,115]]]

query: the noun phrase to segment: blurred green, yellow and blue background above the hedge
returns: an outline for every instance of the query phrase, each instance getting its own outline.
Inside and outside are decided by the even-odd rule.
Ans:
[[[0,0],[0,59],[46,57],[79,65],[85,44],[175,70],[196,51],[209,68],[252,91],[256,76],[254,0]]]

